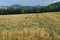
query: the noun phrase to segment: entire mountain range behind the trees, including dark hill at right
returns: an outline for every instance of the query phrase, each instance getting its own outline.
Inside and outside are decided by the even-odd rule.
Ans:
[[[56,3],[52,3],[48,6],[60,6],[60,1],[56,2]],[[1,8],[20,8],[20,7],[29,8],[29,9],[32,8],[32,6],[21,6],[21,5],[15,4],[12,6],[0,6],[0,9]],[[37,7],[43,7],[43,6],[38,5]]]

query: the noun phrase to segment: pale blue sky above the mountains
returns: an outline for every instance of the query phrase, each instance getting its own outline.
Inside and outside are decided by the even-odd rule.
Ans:
[[[2,6],[10,6],[13,4],[19,4],[23,6],[46,6],[54,2],[58,2],[60,0],[0,0],[0,5]]]

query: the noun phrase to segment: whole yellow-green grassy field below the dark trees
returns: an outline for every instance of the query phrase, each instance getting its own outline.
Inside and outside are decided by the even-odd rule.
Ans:
[[[0,40],[60,40],[60,12],[0,15]]]

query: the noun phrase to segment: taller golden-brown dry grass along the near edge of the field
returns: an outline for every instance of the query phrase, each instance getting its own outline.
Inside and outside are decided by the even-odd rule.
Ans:
[[[0,32],[0,40],[57,40],[56,34],[50,35],[44,29],[24,28],[23,30],[4,30]]]

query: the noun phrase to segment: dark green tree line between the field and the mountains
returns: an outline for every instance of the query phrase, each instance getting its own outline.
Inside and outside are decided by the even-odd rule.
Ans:
[[[60,12],[60,6],[44,6],[44,7],[32,7],[30,9],[21,8],[1,8],[0,14],[25,14],[25,13],[43,13],[43,12]]]

